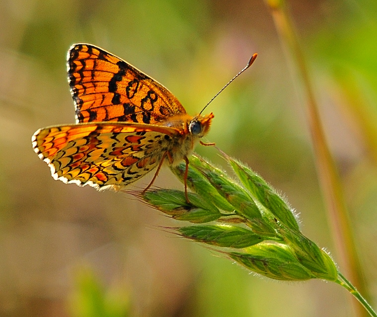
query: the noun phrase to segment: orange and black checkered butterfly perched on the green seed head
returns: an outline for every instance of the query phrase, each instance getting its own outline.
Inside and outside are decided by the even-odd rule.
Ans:
[[[158,166],[157,176],[164,160],[188,162],[209,130],[212,113],[189,116],[164,86],[100,48],[73,45],[67,70],[77,124],[32,137],[54,179],[119,190]]]

